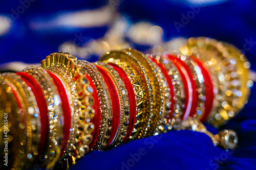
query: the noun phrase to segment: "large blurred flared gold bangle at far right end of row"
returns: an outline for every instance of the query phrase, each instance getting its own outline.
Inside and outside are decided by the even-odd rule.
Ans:
[[[248,76],[250,63],[236,47],[206,37],[189,38],[180,51],[198,56],[215,76],[217,100],[208,122],[220,127],[247,103],[252,85]]]

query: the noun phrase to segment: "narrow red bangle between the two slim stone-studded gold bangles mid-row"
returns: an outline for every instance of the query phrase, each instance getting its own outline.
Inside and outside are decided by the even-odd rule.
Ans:
[[[107,147],[114,141],[118,127],[120,124],[120,103],[119,103],[119,96],[115,87],[114,82],[112,81],[111,77],[108,75],[108,73],[101,67],[96,66],[99,71],[101,72],[104,81],[106,82],[106,85],[108,86],[109,92],[110,92],[110,98],[112,102],[112,111],[113,111],[113,118],[112,118],[112,128],[110,132],[110,138],[108,140],[108,143],[106,144]]]

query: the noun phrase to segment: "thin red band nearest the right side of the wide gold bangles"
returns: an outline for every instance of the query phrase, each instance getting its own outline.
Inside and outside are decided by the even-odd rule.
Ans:
[[[174,110],[174,103],[175,103],[175,100],[174,100],[174,87],[173,87],[173,83],[172,83],[172,79],[170,79],[170,76],[168,75],[168,72],[167,70],[164,68],[164,66],[158,61],[156,60],[155,58],[151,58],[151,57],[148,57],[151,61],[155,62],[159,68],[161,69],[167,83],[168,83],[168,86],[169,86],[169,92],[170,92],[170,111],[169,111],[169,119],[171,119],[173,117],[173,110]]]

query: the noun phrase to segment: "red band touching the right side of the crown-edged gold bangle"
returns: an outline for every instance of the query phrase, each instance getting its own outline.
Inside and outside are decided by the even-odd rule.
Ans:
[[[93,93],[92,93],[92,96],[93,96],[93,99],[94,99],[94,105],[93,105],[93,109],[95,111],[95,115],[94,115],[94,118],[91,119],[91,123],[94,124],[94,130],[92,132],[92,136],[93,136],[93,140],[89,146],[90,148],[90,151],[92,150],[92,148],[94,147],[97,139],[98,139],[98,136],[99,136],[99,131],[100,131],[100,119],[101,119],[101,112],[100,112],[100,103],[99,103],[99,96],[98,96],[98,93],[97,93],[97,90],[96,90],[96,87],[92,81],[92,79],[86,75],[86,78],[89,80],[90,82],[90,86],[92,87],[93,89]]]

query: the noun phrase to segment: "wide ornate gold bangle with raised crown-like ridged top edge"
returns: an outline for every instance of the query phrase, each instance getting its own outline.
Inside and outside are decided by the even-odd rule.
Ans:
[[[90,84],[86,73],[76,64],[76,58],[68,53],[53,53],[41,65],[48,71],[56,74],[65,83],[71,103],[71,132],[69,143],[60,162],[72,164],[75,160],[89,152],[89,144],[92,141],[94,125],[90,119],[94,117],[94,99],[92,92],[88,90]],[[69,165],[67,165],[69,166]]]

